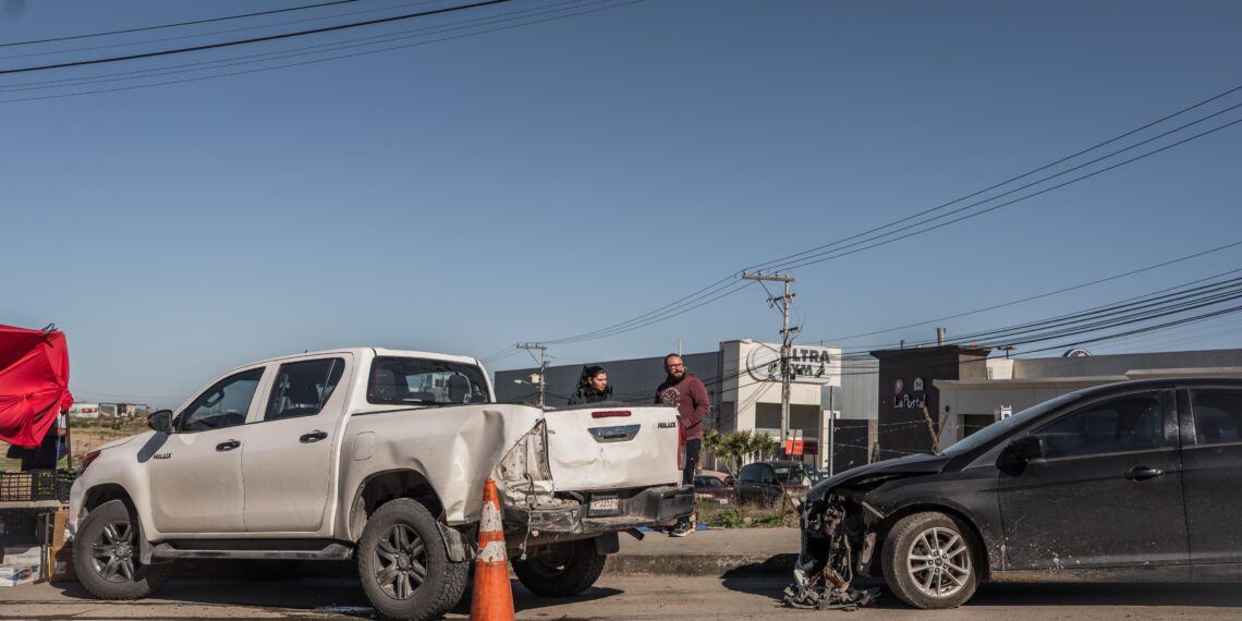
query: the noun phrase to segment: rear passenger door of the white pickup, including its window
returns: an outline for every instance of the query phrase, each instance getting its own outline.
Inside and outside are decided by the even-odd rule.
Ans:
[[[241,453],[246,530],[313,533],[332,494],[350,354],[281,364]],[[348,383],[344,383],[348,386]]]

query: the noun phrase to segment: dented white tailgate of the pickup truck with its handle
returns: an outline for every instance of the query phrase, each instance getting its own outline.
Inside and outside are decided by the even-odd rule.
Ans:
[[[681,484],[677,410],[597,406],[544,414],[556,491]]]

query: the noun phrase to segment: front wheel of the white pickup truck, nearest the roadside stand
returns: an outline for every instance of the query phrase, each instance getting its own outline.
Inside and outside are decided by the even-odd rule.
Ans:
[[[73,540],[73,569],[101,600],[139,600],[168,581],[171,563],[143,565],[142,528],[124,501],[108,501],[86,515]]]

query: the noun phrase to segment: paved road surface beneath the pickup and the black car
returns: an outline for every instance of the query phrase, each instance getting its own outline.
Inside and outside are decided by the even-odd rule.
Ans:
[[[773,578],[605,576],[579,597],[537,597],[514,581],[518,619],[525,620],[1200,620],[1242,616],[1242,589],[1196,585],[991,585],[969,606],[922,612],[886,595],[857,612],[780,607],[785,581]],[[468,616],[468,600],[448,619]],[[0,589],[2,619],[370,619],[356,581],[303,578],[284,582],[174,580],[158,599],[101,602],[77,585]]]

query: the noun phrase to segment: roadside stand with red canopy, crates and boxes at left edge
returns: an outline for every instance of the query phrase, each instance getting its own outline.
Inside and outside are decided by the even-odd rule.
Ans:
[[[0,325],[0,587],[72,578],[68,376],[65,333],[55,325]]]

